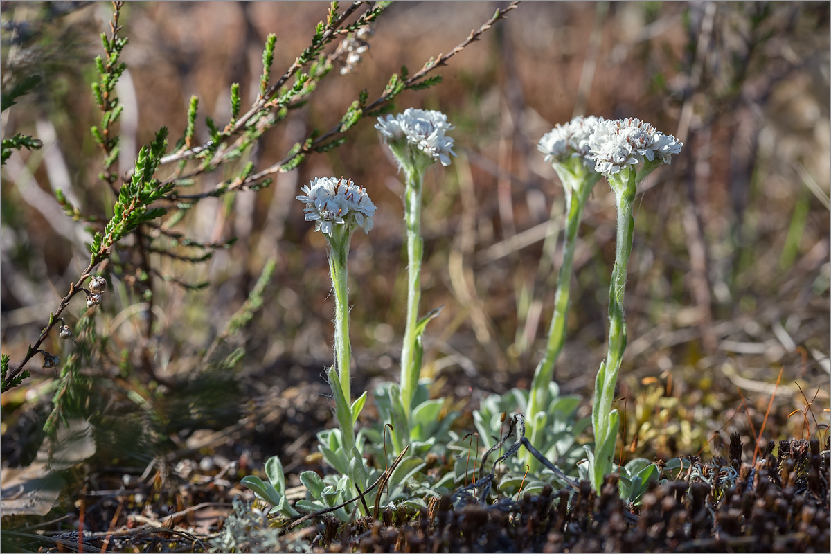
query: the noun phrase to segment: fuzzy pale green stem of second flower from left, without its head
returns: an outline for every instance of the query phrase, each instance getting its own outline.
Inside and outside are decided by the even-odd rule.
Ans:
[[[404,222],[407,235],[407,319],[404,343],[401,347],[401,404],[407,424],[421,368],[416,367],[416,324],[421,301],[421,257],[424,242],[421,240],[421,185],[424,171],[416,164],[404,166],[406,189],[404,193]]]

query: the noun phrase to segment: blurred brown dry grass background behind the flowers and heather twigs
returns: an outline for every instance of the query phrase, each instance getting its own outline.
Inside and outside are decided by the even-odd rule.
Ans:
[[[499,5],[394,4],[359,71],[325,80],[306,108],[263,136],[251,159],[272,164],[312,127],[329,129],[362,88],[374,98],[401,65],[415,71],[449,51]],[[200,99],[197,137],[206,140],[204,115],[228,119],[231,82],[241,84],[243,103],[253,98],[266,34],[278,33],[279,71],[307,46],[326,8],[326,2],[128,2],[129,75],[118,90],[125,104],[120,174],[160,125],[181,133],[191,95]],[[2,3],[4,86],[30,71],[47,77],[44,89],[3,115],[4,137],[28,132],[45,142],[39,152],[15,154],[2,171],[2,351],[12,362],[88,259],[81,225],[64,218],[51,190],[63,188],[100,216],[111,205],[96,182],[101,160],[89,126],[99,114],[88,84],[101,48],[96,33],[106,28],[110,7],[57,9]],[[28,22],[17,31],[23,38],[29,33],[20,46],[7,42],[12,22]],[[527,2],[442,68],[443,84],[401,95],[400,110],[442,110],[456,125],[458,158],[425,182],[422,306],[445,305],[427,332],[430,374],[457,400],[529,385],[550,317],[563,205],[536,143],[575,113],[632,115],[678,135],[685,148],[639,197],[621,385],[627,409],[634,415],[638,402],[648,404],[641,380],[656,376],[681,408],[648,405],[653,426],[663,419],[666,430],[672,417],[659,412],[674,409],[709,438],[740,409],[738,386],[758,432],[784,367],[777,424],[804,404],[796,381],[809,397],[820,386],[814,414],[827,424],[829,60],[827,2]],[[294,196],[315,176],[345,175],[366,186],[378,206],[375,228],[356,235],[350,257],[354,374],[358,386],[397,378],[406,310],[403,186],[371,124],[362,121],[346,145],[279,175],[269,189],[204,200],[179,223],[197,240],[239,240],[198,267],[154,259],[165,274],[211,283],[203,292],[157,287],[160,317],[149,347],[161,375],[197,369],[199,351],[241,305],[265,260],[276,256],[278,270],[248,330],[243,366],[258,375],[315,368],[307,379],[318,379],[317,368],[332,357],[332,299],[322,238],[303,221]],[[224,177],[219,170],[196,187]],[[556,379],[563,390],[588,396],[604,354],[614,251],[613,198],[604,182],[587,212]],[[128,355],[142,344],[138,311],[130,308],[135,302],[124,289],[107,306],[116,351]],[[61,347],[57,339],[47,346]],[[52,378],[32,369],[36,377],[24,389]],[[91,371],[117,368],[102,360]],[[796,419],[782,432],[797,434]],[[745,417],[731,425],[745,429]],[[627,442],[634,429],[628,433]]]

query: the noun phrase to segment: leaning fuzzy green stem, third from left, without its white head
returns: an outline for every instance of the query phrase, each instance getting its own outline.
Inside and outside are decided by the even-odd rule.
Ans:
[[[577,235],[580,222],[583,219],[583,209],[588,202],[588,196],[597,183],[597,174],[575,176],[567,169],[558,168],[560,180],[563,181],[563,189],[566,191],[566,202],[568,204],[568,218],[566,221],[565,233],[563,233],[563,263],[557,275],[557,292],[554,294],[554,312],[551,317],[551,326],[548,329],[548,346],[545,355],[534,371],[534,381],[529,393],[528,408],[525,410],[525,424],[531,426],[531,444],[536,448],[542,448],[543,431],[539,425],[534,424],[534,417],[540,411],[545,411],[548,402],[548,384],[553,379],[554,364],[560,352],[563,351],[563,344],[568,331],[568,300],[571,292],[572,263],[574,250],[577,247]],[[548,424],[549,422],[546,422]],[[538,459],[527,453],[525,463],[529,464],[529,471],[534,472],[538,467]]]

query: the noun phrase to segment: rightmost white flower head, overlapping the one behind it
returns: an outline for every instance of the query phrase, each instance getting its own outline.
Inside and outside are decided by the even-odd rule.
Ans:
[[[672,155],[681,152],[683,145],[674,136],[632,117],[599,121],[588,140],[595,170],[604,175],[645,162],[670,164]]]

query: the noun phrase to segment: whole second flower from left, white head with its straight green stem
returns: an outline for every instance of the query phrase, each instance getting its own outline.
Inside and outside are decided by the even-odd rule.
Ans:
[[[404,342],[401,347],[401,406],[409,426],[413,397],[421,370],[421,334],[419,325],[421,299],[421,187],[427,169],[436,161],[450,165],[453,139],[445,132],[453,129],[447,116],[435,110],[408,108],[404,113],[379,117],[375,128],[390,147],[401,169],[404,170],[404,223],[407,238],[407,316]],[[401,451],[409,438],[410,429],[396,429],[393,440]]]

